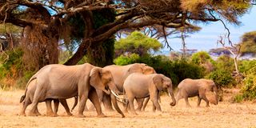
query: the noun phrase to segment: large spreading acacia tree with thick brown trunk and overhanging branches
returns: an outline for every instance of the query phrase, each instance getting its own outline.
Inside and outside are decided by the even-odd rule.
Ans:
[[[85,25],[82,42],[75,54],[65,63],[74,65],[87,50],[101,43],[107,43],[105,41],[119,30],[154,25],[162,26],[163,29],[179,28],[196,26],[198,22],[217,22],[220,19],[239,24],[238,17],[246,13],[251,2],[254,1],[2,0],[0,22],[22,26],[25,28],[24,33],[28,28],[28,32],[23,34],[24,37],[36,42],[30,45],[29,49],[39,46],[39,49],[43,50],[42,53],[46,54],[44,58],[49,58],[49,63],[57,63],[58,41],[64,31],[62,29],[66,28],[72,16],[81,15]],[[115,20],[95,28],[93,11],[103,9],[114,10]]]

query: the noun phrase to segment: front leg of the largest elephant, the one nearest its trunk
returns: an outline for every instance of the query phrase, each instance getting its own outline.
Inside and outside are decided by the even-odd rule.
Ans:
[[[97,95],[94,87],[90,88],[88,98],[90,99],[90,102],[92,102],[94,104],[94,107],[97,111],[98,117],[106,117],[106,115],[102,113],[102,107],[98,101],[98,95]]]

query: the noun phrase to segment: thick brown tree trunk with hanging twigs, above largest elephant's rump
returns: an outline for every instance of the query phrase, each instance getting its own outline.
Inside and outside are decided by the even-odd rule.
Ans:
[[[58,34],[39,26],[26,26],[22,37],[23,62],[30,70],[58,63]]]

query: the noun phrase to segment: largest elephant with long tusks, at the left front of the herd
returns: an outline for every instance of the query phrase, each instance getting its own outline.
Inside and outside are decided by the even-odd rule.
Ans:
[[[30,82],[35,81],[34,93],[30,88]],[[94,104],[98,117],[104,117],[102,108],[98,102],[96,89],[110,94],[110,90],[118,93],[118,89],[114,85],[114,79],[110,70],[92,66],[89,63],[77,66],[64,66],[53,64],[42,67],[36,74],[30,78],[26,86],[25,94],[22,95],[21,102],[23,104],[21,114],[25,115],[28,105],[31,105],[30,115],[37,115],[38,102],[46,101],[47,110],[51,109],[47,104],[48,99],[66,99],[78,96],[78,117],[84,117],[83,110],[86,105],[87,98]],[[115,106],[118,107],[118,106]],[[52,110],[51,110],[52,111]],[[122,114],[122,111],[118,109]],[[124,117],[124,114],[122,114]]]

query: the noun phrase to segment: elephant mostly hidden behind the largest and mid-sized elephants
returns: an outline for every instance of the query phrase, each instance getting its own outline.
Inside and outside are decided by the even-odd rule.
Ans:
[[[117,86],[118,90],[123,93],[123,83],[126,78],[133,73],[142,73],[142,74],[155,74],[154,68],[147,66],[144,63],[134,63],[126,66],[117,66],[117,65],[110,65],[105,66],[103,69],[110,70],[113,78],[114,83]],[[113,110],[109,95],[106,95],[102,90],[97,90],[98,98],[100,102],[103,102],[106,110]],[[136,98],[138,102],[138,110],[142,109],[142,104],[144,98]],[[145,105],[146,106],[146,105]],[[91,107],[90,107],[91,110]]]

